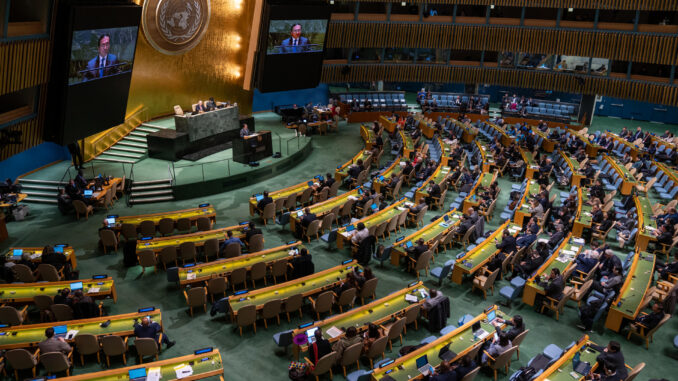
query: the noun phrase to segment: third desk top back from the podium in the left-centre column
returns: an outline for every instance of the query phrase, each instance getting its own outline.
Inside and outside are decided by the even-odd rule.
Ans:
[[[274,247],[257,253],[241,255],[235,258],[220,259],[215,262],[203,263],[192,267],[179,268],[179,282],[181,284],[206,281],[213,276],[226,276],[233,270],[241,267],[250,268],[259,262],[275,262],[278,259],[293,257],[298,254],[295,249],[301,250],[301,242]]]

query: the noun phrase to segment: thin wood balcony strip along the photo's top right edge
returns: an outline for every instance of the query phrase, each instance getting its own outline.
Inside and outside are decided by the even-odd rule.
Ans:
[[[400,3],[401,0],[360,0],[365,3]],[[506,7],[586,8],[617,10],[678,10],[675,0],[409,0],[414,4],[498,5]]]

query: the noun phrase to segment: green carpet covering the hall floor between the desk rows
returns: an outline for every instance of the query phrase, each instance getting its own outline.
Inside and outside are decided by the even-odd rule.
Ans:
[[[257,115],[256,118],[257,126],[259,126],[260,116]],[[262,121],[262,123],[265,122]],[[653,128],[653,131],[656,132],[663,132],[667,128],[673,128],[674,130],[677,128],[596,117],[594,118],[594,128],[592,130],[617,130],[622,125],[629,127],[642,125],[643,128]],[[75,221],[73,216],[62,216],[53,206],[33,204],[31,205],[31,214],[26,220],[8,224],[11,238],[3,242],[1,248],[4,250],[10,246],[41,246],[62,242],[67,242],[74,246],[82,278],[100,273],[106,273],[115,278],[118,290],[118,303],[106,302],[108,314],[133,312],[143,306],[156,306],[162,310],[164,328],[167,334],[177,341],[178,345],[169,350],[164,350],[160,355],[161,359],[189,354],[197,348],[214,346],[219,348],[222,353],[225,365],[224,378],[227,381],[254,379],[286,380],[288,379],[287,366],[291,357],[276,354],[278,348],[276,348],[272,336],[278,331],[291,329],[303,322],[311,321],[313,317],[308,311],[305,311],[302,320],[294,318],[291,323],[284,321],[279,327],[275,323],[269,323],[268,330],[264,329],[263,324],[260,322],[256,334],[251,329],[246,328],[244,336],[241,338],[235,325],[224,319],[223,315],[213,318],[209,313],[205,314],[202,311],[196,311],[195,317],[191,318],[186,308],[182,290],[175,284],[168,283],[162,270],[153,273],[151,269],[147,269],[146,273],[142,274],[139,267],[125,268],[122,265],[122,250],[119,250],[117,254],[104,255],[97,248],[97,229],[101,226],[101,221],[106,214],[135,215],[169,211],[194,207],[204,201],[211,202],[216,207],[217,227],[230,226],[249,218],[248,198],[251,194],[266,189],[280,189],[316,174],[328,171],[333,172],[337,165],[350,159],[363,146],[358,125],[346,125],[345,122],[340,123],[339,133],[327,136],[313,136],[312,144],[314,150],[311,155],[284,175],[272,177],[255,186],[248,186],[236,191],[214,195],[204,200],[193,199],[172,203],[138,205],[133,208],[127,208],[123,202],[118,202],[108,212],[105,210],[98,211],[93,217],[90,217],[92,219],[89,221]],[[52,170],[54,173],[63,173],[63,169],[61,171],[57,169]],[[194,170],[197,171],[198,169]],[[141,174],[137,174],[137,176],[139,176],[138,178],[143,178]],[[508,201],[511,183],[506,178],[500,179],[499,183],[503,190],[497,202],[495,217],[486,225],[486,229],[499,226],[503,222],[499,215]],[[457,194],[454,192],[448,193],[447,204],[454,200],[456,196]],[[429,212],[426,220],[437,214],[439,213]],[[267,248],[284,244],[292,239],[288,230],[281,231],[277,225],[269,225],[263,228],[263,230]],[[409,234],[412,231],[414,230],[410,229],[405,234]],[[328,249],[327,244],[324,242],[314,241],[308,247],[313,255],[316,271],[336,266],[342,260],[349,258],[346,251]],[[446,253],[439,254],[435,258],[435,265],[441,265],[447,259],[453,258],[460,250],[459,247],[456,247]],[[626,253],[617,254],[625,255]],[[411,274],[394,268],[388,263],[385,264],[384,268],[379,268],[376,264],[373,264],[372,267],[379,278],[377,297],[383,297],[392,291],[401,289],[415,279]],[[437,282],[431,280],[431,278],[426,278],[425,282],[429,287],[436,287],[437,285]],[[468,281],[462,285],[455,285],[446,281],[442,291],[451,298],[452,302],[452,316],[448,323],[456,323],[458,318],[467,313],[472,315],[478,314],[487,306],[501,300],[498,291],[506,284],[506,281],[497,282],[494,296],[488,295],[487,300],[483,300],[480,293],[471,292],[471,285]],[[530,329],[530,334],[521,346],[520,360],[512,362],[509,373],[526,365],[531,357],[540,353],[549,343],[565,347],[582,335],[582,332],[575,327],[575,324],[578,323],[577,311],[576,306],[571,302],[568,303],[564,313],[561,315],[560,321],[556,321],[552,317],[539,315],[531,307],[521,303],[514,303],[513,308],[508,310],[503,308],[503,310],[509,314],[519,313],[523,315],[527,327]],[[31,321],[39,321],[35,313],[31,314]],[[604,330],[600,323],[602,322],[599,322],[598,331],[591,334],[592,340],[603,344],[608,340],[618,340],[622,343],[622,349],[628,364],[632,366],[640,362],[648,364],[638,380],[661,377],[674,378],[670,377],[670,369],[675,369],[677,363],[675,362],[676,360],[668,355],[678,352],[678,350],[673,348],[672,344],[673,336],[678,334],[675,320],[669,321],[658,332],[650,350],[646,350],[638,341],[627,342],[622,335]],[[404,345],[417,344],[424,337],[437,334],[422,328],[423,325],[420,324],[418,331],[408,329],[408,333],[404,337]],[[400,345],[396,344],[392,352],[387,350],[386,356],[391,358],[396,357],[399,349]],[[134,358],[128,358],[127,364],[133,365],[136,364],[136,361]],[[113,363],[116,367],[122,366],[120,359],[113,360]],[[366,368],[366,365],[363,364],[361,368]],[[90,360],[84,367],[76,365],[73,373],[83,374],[101,369],[96,362]],[[355,370],[355,368],[350,371],[352,370]],[[42,373],[44,374],[44,371]],[[337,374],[335,372],[336,379],[342,379],[342,377],[340,373]],[[491,377],[489,374],[481,372],[478,379],[489,380]],[[500,379],[508,379],[508,376],[500,373]]]

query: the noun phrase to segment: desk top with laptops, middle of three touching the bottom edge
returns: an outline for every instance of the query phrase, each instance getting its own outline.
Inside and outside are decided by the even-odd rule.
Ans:
[[[503,317],[503,315],[499,311],[497,311],[497,316]],[[486,338],[484,338],[485,340],[489,340],[492,338],[492,333],[495,331],[495,328],[492,324],[489,324],[486,321],[481,320],[484,318],[485,314],[476,316],[476,318],[473,319],[470,323],[467,323],[457,328],[456,330],[448,333],[447,335],[438,338],[437,340],[431,342],[430,344],[427,344],[426,346],[421,347],[418,350],[397,359],[395,363],[387,367],[384,367],[383,369],[375,370],[373,378],[376,378],[377,380],[382,379],[386,375],[385,373],[391,369],[393,371],[388,373],[388,376],[392,377],[397,381],[405,381],[409,380],[410,378],[417,377],[421,374],[417,370],[417,359],[423,355],[426,355],[428,363],[433,367],[437,367],[442,362],[442,360],[440,360],[440,358],[438,357],[438,354],[440,353],[440,350],[448,344],[449,349],[457,353],[458,355],[457,357],[460,358],[461,357],[459,356],[460,354],[465,353],[470,348],[483,341],[480,339],[476,339],[474,337],[473,332],[471,330],[473,322],[480,321],[481,328],[490,333],[489,335],[487,335]]]

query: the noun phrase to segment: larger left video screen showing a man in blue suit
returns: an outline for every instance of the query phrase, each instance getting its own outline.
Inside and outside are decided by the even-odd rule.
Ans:
[[[138,31],[136,26],[74,31],[68,84],[131,72]]]

